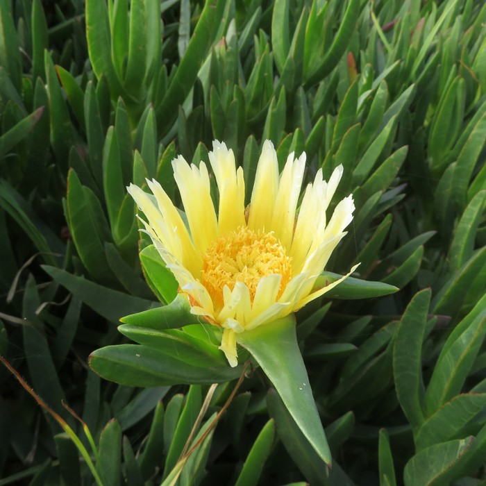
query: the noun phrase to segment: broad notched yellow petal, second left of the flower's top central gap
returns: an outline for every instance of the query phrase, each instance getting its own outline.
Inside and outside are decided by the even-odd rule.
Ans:
[[[192,241],[202,255],[217,238],[215,206],[210,194],[210,181],[206,164],[188,165],[182,156],[172,161],[174,178],[181,192],[185,215]]]

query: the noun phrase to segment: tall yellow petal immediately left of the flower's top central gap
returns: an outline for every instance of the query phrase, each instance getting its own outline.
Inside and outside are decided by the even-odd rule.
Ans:
[[[219,189],[218,231],[221,235],[245,224],[244,179],[242,174],[237,176],[233,150],[217,140],[212,142],[212,147],[209,161]]]

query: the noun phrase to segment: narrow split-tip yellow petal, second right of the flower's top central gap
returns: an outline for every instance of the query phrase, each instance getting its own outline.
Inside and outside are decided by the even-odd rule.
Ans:
[[[280,175],[278,192],[275,201],[271,230],[275,231],[280,243],[290,249],[295,226],[295,211],[301,194],[303,173],[305,170],[305,152],[294,160],[290,154]]]

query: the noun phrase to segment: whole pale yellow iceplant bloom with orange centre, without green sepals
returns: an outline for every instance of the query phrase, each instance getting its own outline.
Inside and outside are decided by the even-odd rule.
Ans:
[[[151,194],[130,185],[144,213],[145,231],[187,294],[194,315],[220,326],[221,346],[229,364],[237,365],[237,334],[264,326],[299,310],[335,287],[340,280],[314,288],[344,229],[353,219],[353,196],[326,210],[342,177],[340,165],[328,182],[319,169],[297,204],[305,153],[290,153],[281,174],[273,144],[263,144],[251,202],[244,204],[242,167],[226,144],[213,142],[209,160],[219,190],[215,211],[210,175],[204,162],[172,161],[187,226],[160,184],[147,181]]]

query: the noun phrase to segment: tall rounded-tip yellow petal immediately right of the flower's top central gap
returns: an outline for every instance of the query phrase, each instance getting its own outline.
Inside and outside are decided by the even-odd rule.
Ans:
[[[265,140],[258,160],[251,192],[248,226],[253,231],[269,231],[278,192],[278,161],[274,145]]]

